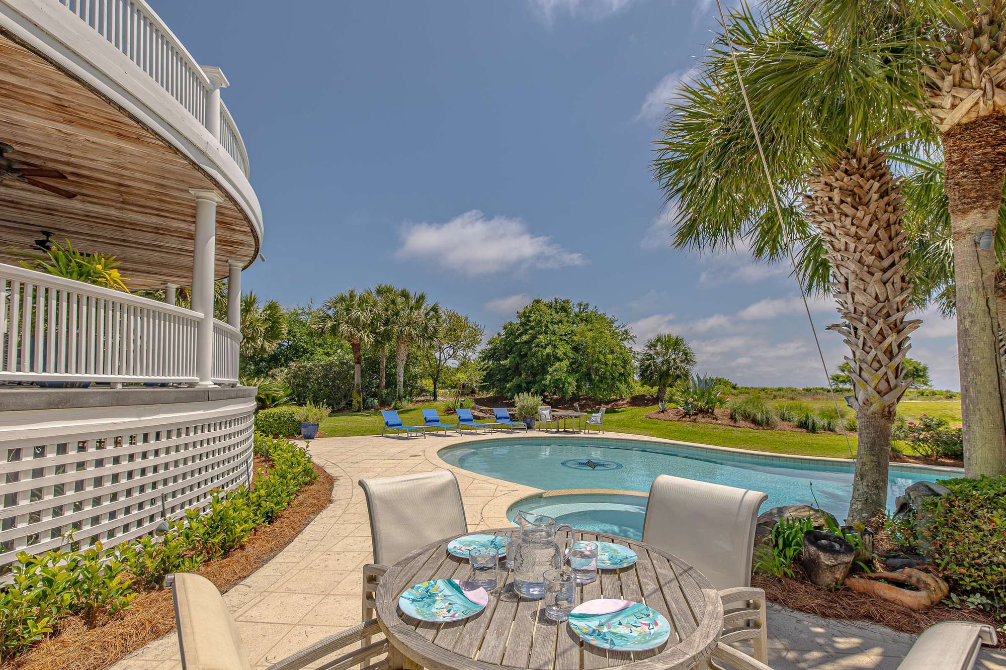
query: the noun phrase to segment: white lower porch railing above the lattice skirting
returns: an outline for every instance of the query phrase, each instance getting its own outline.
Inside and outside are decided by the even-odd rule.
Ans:
[[[201,319],[180,307],[0,264],[0,380],[194,382]],[[237,345],[219,352],[232,357],[220,365],[233,370],[228,381],[235,382]]]

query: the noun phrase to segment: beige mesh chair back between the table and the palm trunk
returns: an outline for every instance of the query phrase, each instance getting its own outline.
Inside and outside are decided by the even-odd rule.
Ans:
[[[719,591],[749,587],[760,491],[660,475],[650,487],[643,541],[673,553]]]

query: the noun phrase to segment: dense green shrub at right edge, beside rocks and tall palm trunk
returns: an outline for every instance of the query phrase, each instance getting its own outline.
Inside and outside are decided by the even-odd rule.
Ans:
[[[1006,477],[940,483],[951,492],[923,502],[930,557],[954,593],[1006,602]]]

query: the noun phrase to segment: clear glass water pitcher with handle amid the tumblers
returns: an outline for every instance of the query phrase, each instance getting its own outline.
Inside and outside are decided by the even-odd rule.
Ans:
[[[514,521],[520,527],[520,537],[513,547],[513,588],[524,598],[544,598],[542,573],[562,565],[572,548],[572,526],[556,524],[550,516],[522,510],[518,510]],[[569,536],[560,549],[555,533],[562,529],[568,530]]]

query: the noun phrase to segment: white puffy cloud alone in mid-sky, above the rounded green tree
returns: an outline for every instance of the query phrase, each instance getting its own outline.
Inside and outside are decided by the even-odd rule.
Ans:
[[[528,268],[554,269],[586,263],[551,237],[533,235],[519,218],[486,218],[478,209],[447,223],[405,222],[400,231],[399,259],[422,259],[468,277]]]

